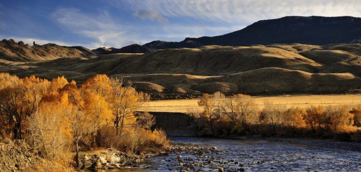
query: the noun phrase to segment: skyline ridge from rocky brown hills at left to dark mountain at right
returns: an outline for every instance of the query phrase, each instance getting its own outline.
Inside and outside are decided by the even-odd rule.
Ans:
[[[197,48],[201,46],[250,46],[270,44],[328,45],[361,42],[361,18],[352,16],[285,16],[259,20],[241,30],[219,36],[185,38],[182,41],[154,40],[144,45],[122,48],[66,47],[56,44],[24,45],[13,39],[0,41],[0,58],[10,61],[43,61],[56,58],[93,58],[103,54],[147,53],[160,49]]]

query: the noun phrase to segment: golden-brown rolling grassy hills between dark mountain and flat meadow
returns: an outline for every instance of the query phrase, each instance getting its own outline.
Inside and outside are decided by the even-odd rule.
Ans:
[[[139,91],[173,93],[350,93],[361,89],[361,44],[202,46],[47,61],[0,59],[0,72],[60,75],[82,83],[123,77]]]

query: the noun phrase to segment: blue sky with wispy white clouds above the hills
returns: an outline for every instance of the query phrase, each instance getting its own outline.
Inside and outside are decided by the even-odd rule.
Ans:
[[[243,29],[283,16],[361,17],[360,0],[0,0],[0,38],[121,48]]]

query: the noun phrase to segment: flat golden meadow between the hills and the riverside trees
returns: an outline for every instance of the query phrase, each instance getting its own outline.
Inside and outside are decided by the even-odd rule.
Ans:
[[[361,94],[252,96],[252,99],[260,108],[263,107],[265,101],[286,107],[309,105],[348,105],[352,107],[361,104]],[[154,100],[145,102],[139,111],[180,113],[203,111],[203,107],[198,106],[197,102],[197,98]]]

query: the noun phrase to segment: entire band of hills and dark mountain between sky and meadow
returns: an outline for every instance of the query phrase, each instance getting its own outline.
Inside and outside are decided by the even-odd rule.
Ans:
[[[220,36],[120,49],[29,46],[4,39],[0,72],[64,75],[78,83],[107,74],[153,94],[350,93],[361,90],[359,42],[361,18],[350,16],[286,16]]]

